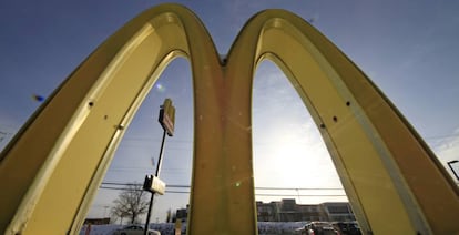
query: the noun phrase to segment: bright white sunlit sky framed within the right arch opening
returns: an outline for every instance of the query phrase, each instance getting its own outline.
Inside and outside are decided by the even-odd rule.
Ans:
[[[257,200],[294,197],[302,203],[345,200],[345,196],[315,196],[344,195],[344,191],[328,191],[341,188],[336,168],[308,110],[284,73],[264,62],[255,78],[253,149]],[[259,190],[264,187],[280,190]]]

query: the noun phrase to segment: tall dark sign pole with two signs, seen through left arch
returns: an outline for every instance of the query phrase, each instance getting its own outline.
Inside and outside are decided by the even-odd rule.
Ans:
[[[163,140],[161,141],[160,156],[157,157],[156,172],[154,175],[146,175],[145,181],[143,182],[143,190],[152,193],[152,196],[150,198],[149,212],[146,215],[144,235],[147,235],[149,233],[150,216],[152,213],[154,195],[156,193],[162,195],[164,194],[164,191],[165,191],[165,184],[164,182],[160,180],[160,172],[161,172],[161,164],[162,164],[163,155],[164,155],[163,150],[164,150],[165,136],[166,134],[169,136],[172,136],[174,134],[175,108],[172,105],[171,99],[164,100],[164,103],[163,105],[161,105],[161,109],[160,109],[160,117],[157,121],[163,127]]]

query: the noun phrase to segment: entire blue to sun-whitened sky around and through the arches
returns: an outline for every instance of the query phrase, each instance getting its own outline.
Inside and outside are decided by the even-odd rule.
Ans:
[[[48,96],[104,39],[141,11],[161,2],[1,1],[0,150],[40,105],[33,94]],[[230,50],[244,23],[261,10],[280,8],[313,19],[313,25],[396,104],[441,162],[459,159],[459,3],[456,1],[177,2],[201,18],[221,54]],[[131,124],[105,181],[142,182],[145,174],[153,172],[152,157],[157,160],[162,132],[156,121],[157,109],[165,98],[172,98],[177,109],[176,134],[166,142],[162,178],[167,184],[190,184],[193,136],[190,78],[190,65],[184,59],[177,59],[165,70]],[[256,186],[339,187],[309,114],[284,78],[271,62],[262,63],[256,73],[253,94]],[[286,116],[286,111],[293,115]],[[274,147],[273,143],[278,142],[285,144]],[[116,191],[101,191],[90,215],[105,213],[104,206],[116,194]],[[296,198],[302,203],[343,200]],[[162,218],[164,210],[186,203],[186,194],[162,196],[152,218]]]

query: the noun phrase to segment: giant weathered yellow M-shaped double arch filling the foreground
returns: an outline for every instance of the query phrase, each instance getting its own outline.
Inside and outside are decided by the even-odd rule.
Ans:
[[[188,233],[257,233],[251,93],[263,59],[283,69],[312,112],[365,232],[459,231],[456,185],[394,105],[325,37],[289,12],[264,11],[222,63],[198,19],[176,4],[143,12],[106,40],[2,152],[0,178],[9,183],[0,197],[0,231],[78,233],[123,130],[178,55],[190,59],[194,85]]]

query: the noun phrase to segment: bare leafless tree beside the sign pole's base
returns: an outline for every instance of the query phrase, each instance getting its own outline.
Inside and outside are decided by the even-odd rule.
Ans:
[[[113,201],[112,215],[120,217],[130,217],[131,224],[139,222],[139,216],[145,214],[149,210],[147,193],[142,190],[140,184],[129,184],[116,200]]]

